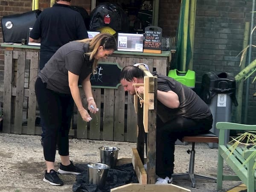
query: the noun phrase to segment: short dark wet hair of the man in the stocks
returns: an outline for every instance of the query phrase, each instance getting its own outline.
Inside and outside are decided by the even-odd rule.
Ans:
[[[120,80],[125,79],[126,81],[133,81],[133,78],[137,79],[144,78],[144,72],[139,67],[135,67],[133,65],[125,66],[120,73]]]

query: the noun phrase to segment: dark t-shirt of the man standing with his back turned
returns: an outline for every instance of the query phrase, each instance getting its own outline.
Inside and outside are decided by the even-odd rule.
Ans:
[[[42,69],[59,47],[70,41],[88,38],[88,33],[79,12],[68,5],[55,3],[38,16],[30,37],[41,38],[39,67]]]

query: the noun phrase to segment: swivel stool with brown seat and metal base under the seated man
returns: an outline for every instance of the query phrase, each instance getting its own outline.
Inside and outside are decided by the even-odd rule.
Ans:
[[[189,142],[192,143],[192,149],[187,151],[190,154],[189,160],[189,171],[186,173],[177,173],[173,174],[172,176],[175,177],[183,177],[187,176],[188,179],[192,182],[192,187],[195,187],[195,179],[209,179],[216,181],[215,177],[209,177],[204,175],[198,175],[194,173],[195,167],[195,143],[218,143],[218,136],[208,131],[206,134],[194,135],[194,136],[185,136],[182,138],[182,142]]]

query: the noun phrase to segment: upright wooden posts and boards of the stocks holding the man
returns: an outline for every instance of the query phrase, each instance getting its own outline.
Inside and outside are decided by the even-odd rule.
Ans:
[[[157,117],[157,78],[146,70],[144,65],[139,66],[144,72],[144,94],[143,94],[143,113],[140,108],[139,99],[134,97],[134,102],[138,105],[134,105],[135,111],[137,111],[138,119],[138,137],[137,137],[137,152],[140,157],[140,161],[144,162],[144,140],[146,135],[146,157],[147,157],[147,183],[155,183],[155,167],[156,167],[156,117]],[[141,86],[142,84],[140,84]],[[142,123],[143,122],[143,123]],[[134,152],[134,158],[136,153]],[[135,160],[134,162],[137,162]],[[136,170],[140,170],[138,165],[134,167]],[[137,172],[136,172],[137,173]],[[137,177],[141,177],[141,173],[137,173]]]

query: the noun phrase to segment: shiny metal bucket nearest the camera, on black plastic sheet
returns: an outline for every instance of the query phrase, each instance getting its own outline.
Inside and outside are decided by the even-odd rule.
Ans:
[[[88,163],[89,183],[97,185],[100,189],[105,186],[109,166],[103,163]]]

